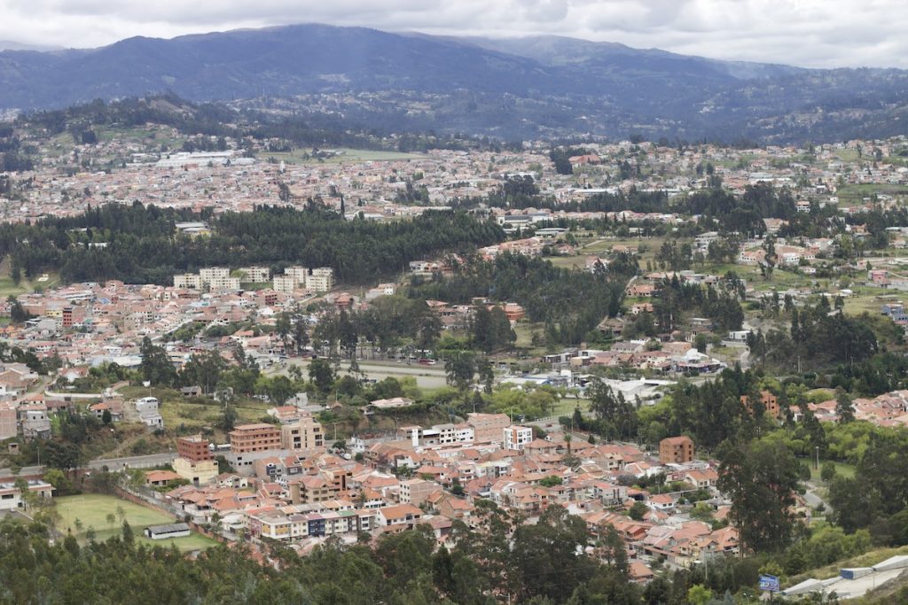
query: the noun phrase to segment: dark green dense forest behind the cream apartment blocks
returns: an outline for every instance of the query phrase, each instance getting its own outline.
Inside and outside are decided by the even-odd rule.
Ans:
[[[179,220],[207,220],[210,237],[177,232]],[[334,268],[337,278],[366,283],[406,268],[410,260],[466,251],[504,239],[497,225],[467,214],[430,211],[387,223],[343,220],[311,204],[307,210],[262,206],[212,216],[141,204],[111,204],[74,218],[0,226],[0,256],[32,276],[59,270],[66,282],[116,278],[169,284],[173,274],[202,267],[292,264]],[[98,245],[101,244],[101,245]]]

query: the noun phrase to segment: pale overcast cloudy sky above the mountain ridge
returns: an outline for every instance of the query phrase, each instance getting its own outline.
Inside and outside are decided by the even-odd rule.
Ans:
[[[559,34],[719,59],[908,68],[905,0],[0,0],[0,40],[28,44],[293,23]]]

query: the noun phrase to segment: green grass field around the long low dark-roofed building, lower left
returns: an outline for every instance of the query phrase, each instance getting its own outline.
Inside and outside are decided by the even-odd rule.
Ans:
[[[125,513],[125,520],[132,526],[135,539],[138,542],[167,548],[173,543],[181,551],[196,551],[217,543],[198,533],[193,533],[186,538],[174,538],[172,540],[151,540],[146,538],[143,535],[145,527],[148,525],[173,523],[175,522],[173,517],[121,500],[115,496],[99,494],[65,496],[56,499],[56,506],[62,517],[62,520],[58,523],[60,531],[68,532],[72,530],[76,539],[82,542],[85,541],[85,533],[88,532],[89,528],[94,528],[95,540],[98,542],[104,542],[111,536],[119,535],[123,524],[119,516],[117,516],[117,511],[118,508],[122,507]],[[107,520],[107,515],[111,513],[117,517],[113,523]],[[75,529],[76,519],[82,522],[81,531]]]

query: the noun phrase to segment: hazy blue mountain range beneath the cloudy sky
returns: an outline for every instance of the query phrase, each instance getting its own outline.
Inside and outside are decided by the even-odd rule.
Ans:
[[[306,95],[283,104],[369,127],[500,138],[827,141],[898,134],[908,119],[908,72],[900,70],[724,62],[556,36],[302,24],[0,52],[0,108],[163,90],[192,101]]]

